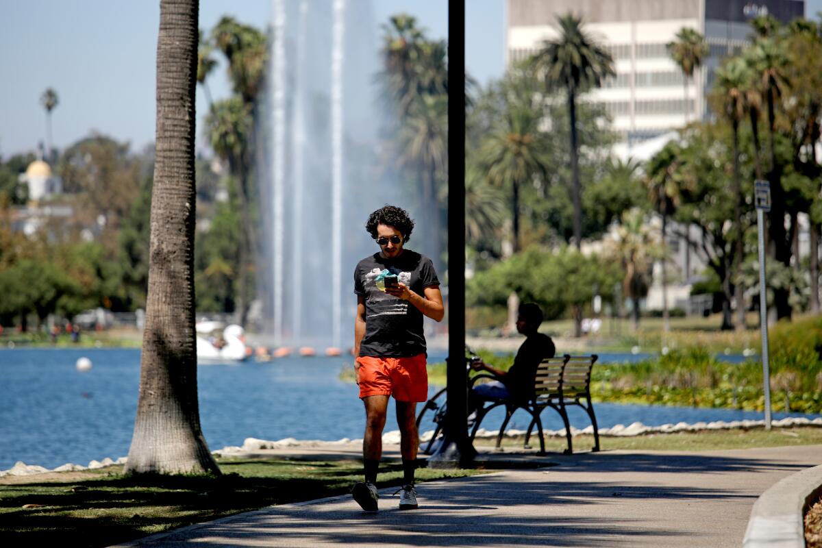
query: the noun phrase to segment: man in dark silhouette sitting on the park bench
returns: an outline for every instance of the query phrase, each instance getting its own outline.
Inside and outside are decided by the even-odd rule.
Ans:
[[[554,357],[556,353],[551,337],[537,331],[542,323],[543,311],[538,305],[533,302],[521,304],[516,320],[516,330],[525,335],[525,340],[520,345],[510,369],[501,371],[482,360],[475,360],[471,363],[474,371],[488,371],[498,379],[473,386],[469,394],[469,411],[472,412],[472,416],[483,401],[518,400],[533,396],[533,379],[537,374],[537,367],[543,359]]]

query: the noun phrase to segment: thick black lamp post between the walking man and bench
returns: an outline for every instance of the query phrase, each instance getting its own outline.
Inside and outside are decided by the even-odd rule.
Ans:
[[[429,467],[469,467],[465,371],[465,0],[448,2],[448,368],[444,440]]]

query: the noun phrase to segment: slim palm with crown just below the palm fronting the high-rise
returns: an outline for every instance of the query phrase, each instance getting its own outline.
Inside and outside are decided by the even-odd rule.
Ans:
[[[645,185],[649,190],[649,198],[662,219],[660,245],[663,249],[667,249],[667,220],[677,210],[680,202],[682,162],[680,146],[669,142],[645,166]],[[671,329],[667,308],[667,256],[661,255],[659,264],[662,269],[663,330],[667,332]]]

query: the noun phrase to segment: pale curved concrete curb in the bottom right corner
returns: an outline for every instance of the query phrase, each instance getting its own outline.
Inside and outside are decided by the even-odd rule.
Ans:
[[[805,511],[822,494],[822,466],[775,483],[750,510],[744,548],[805,548]]]

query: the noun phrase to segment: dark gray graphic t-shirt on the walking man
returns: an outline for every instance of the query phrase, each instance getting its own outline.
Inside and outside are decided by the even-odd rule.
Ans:
[[[386,274],[420,296],[423,289],[439,285],[431,259],[406,249],[396,259],[379,253],[359,261],[354,269],[354,292],[365,297],[365,336],[360,356],[403,357],[425,352],[423,313],[416,306],[381,289]]]

